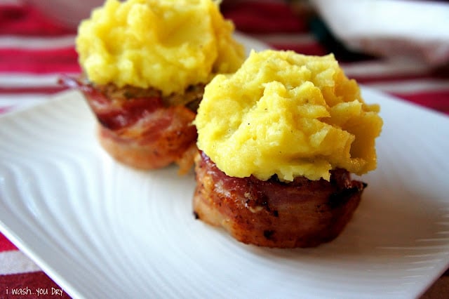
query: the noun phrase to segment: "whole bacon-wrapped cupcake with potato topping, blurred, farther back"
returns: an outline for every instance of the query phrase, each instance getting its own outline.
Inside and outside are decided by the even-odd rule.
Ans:
[[[107,0],[83,20],[83,76],[65,78],[98,119],[102,147],[128,166],[193,165],[192,124],[205,84],[234,72],[243,46],[211,0]]]

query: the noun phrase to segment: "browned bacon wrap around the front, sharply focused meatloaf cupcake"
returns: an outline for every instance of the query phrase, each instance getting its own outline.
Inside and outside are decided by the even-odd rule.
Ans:
[[[196,218],[224,227],[243,243],[279,248],[318,246],[335,239],[366,187],[342,169],[332,171],[330,182],[232,178],[203,152],[196,154],[195,173]]]

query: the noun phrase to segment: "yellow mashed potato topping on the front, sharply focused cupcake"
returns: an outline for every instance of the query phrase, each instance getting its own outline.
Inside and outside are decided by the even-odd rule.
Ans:
[[[332,54],[252,51],[235,74],[206,86],[197,144],[233,177],[330,180],[334,168],[361,175],[376,168],[377,112]]]

